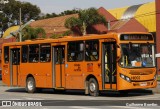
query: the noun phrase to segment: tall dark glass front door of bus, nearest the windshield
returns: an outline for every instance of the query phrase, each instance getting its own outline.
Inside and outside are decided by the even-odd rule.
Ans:
[[[103,89],[116,90],[117,78],[116,78],[116,43],[106,42],[103,43],[102,50],[102,63],[103,63]]]

